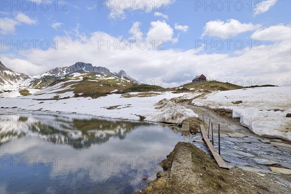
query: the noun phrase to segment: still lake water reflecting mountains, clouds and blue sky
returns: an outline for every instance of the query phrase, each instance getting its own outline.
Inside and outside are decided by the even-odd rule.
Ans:
[[[134,193],[162,171],[180,135],[145,122],[1,114],[0,194]]]

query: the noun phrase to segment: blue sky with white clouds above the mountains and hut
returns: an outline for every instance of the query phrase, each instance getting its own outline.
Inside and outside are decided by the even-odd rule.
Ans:
[[[84,62],[163,87],[291,85],[290,0],[1,0],[0,36],[28,75]]]

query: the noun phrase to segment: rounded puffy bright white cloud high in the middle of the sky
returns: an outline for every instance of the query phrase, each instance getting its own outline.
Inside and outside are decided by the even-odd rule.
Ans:
[[[146,34],[146,40],[148,42],[159,41],[163,40],[164,42],[172,42],[177,43],[178,37],[174,38],[174,30],[171,28],[170,25],[168,25],[165,21],[152,21],[150,22],[150,29]]]

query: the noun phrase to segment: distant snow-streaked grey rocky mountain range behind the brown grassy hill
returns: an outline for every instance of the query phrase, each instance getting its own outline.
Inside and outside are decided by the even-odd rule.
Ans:
[[[130,76],[127,75],[123,70],[121,70],[119,73],[113,73],[106,67],[96,67],[92,64],[85,64],[81,62],[78,62],[69,67],[56,67],[39,76],[28,76],[25,74],[16,73],[0,63],[0,97],[19,97],[30,95],[33,94],[32,92],[37,91],[35,89],[44,89],[53,84],[55,81],[67,78],[74,78],[79,80],[82,79],[82,76],[77,75],[84,75],[84,78],[91,80],[91,82],[92,80],[100,82],[99,86],[103,84],[106,85],[104,80],[115,81],[110,81],[111,83],[109,84],[109,88],[107,87],[107,92],[110,92],[111,89],[125,89],[128,88],[129,83],[137,83],[136,80],[130,78]],[[83,88],[86,87],[84,86]],[[24,89],[25,91],[20,91]],[[98,89],[101,88],[98,87]],[[104,93],[104,91],[105,90],[101,89],[101,93]],[[94,89],[91,92],[97,91]]]

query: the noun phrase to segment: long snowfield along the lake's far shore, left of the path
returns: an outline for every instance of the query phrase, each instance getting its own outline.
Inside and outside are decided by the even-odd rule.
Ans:
[[[45,89],[49,92],[50,88]],[[106,97],[77,97],[61,100],[42,100],[42,98],[53,97],[56,94],[36,95],[26,97],[1,98],[0,107],[17,107],[25,110],[42,110],[64,113],[89,114],[103,118],[116,118],[126,120],[139,120],[145,116],[145,121],[181,123],[189,117],[198,117],[190,109],[179,105],[169,99],[180,97],[185,93],[173,94],[171,92],[160,92],[156,96],[148,97],[124,97],[121,94],[111,94]],[[138,93],[129,93],[137,95]],[[62,94],[62,97],[72,96],[71,92]],[[195,94],[193,94],[195,96]],[[37,99],[37,100],[36,100]],[[162,100],[162,101],[161,101]],[[161,102],[159,102],[161,101]],[[159,102],[159,103],[158,103]]]

